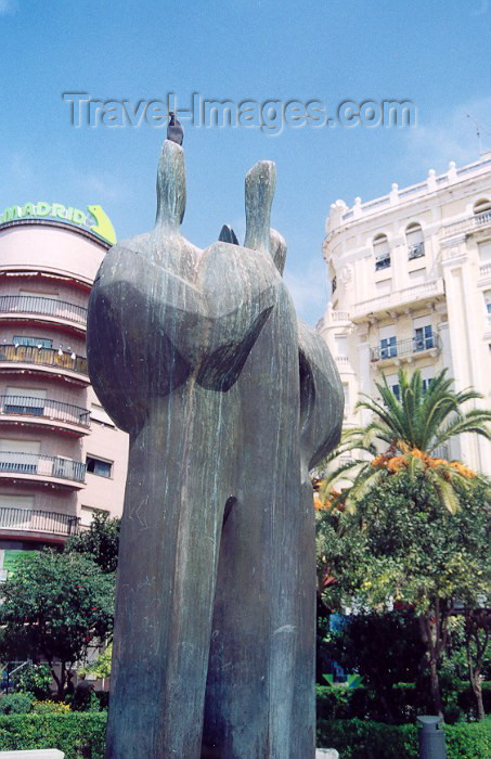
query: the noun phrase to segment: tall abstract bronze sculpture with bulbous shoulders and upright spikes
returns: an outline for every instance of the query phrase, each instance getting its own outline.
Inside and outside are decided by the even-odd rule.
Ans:
[[[275,169],[246,177],[244,247],[180,233],[183,150],[164,143],[157,219],[109,250],[89,306],[95,391],[130,435],[108,759],[313,759],[309,469],[343,389],[298,324],[270,229]]]

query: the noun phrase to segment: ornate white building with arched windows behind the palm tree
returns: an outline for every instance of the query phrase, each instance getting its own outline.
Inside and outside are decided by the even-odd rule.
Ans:
[[[323,245],[332,296],[318,323],[343,380],[345,422],[384,373],[448,368],[455,389],[491,402],[491,153],[374,201],[331,207]],[[491,445],[463,436],[442,455],[491,475]]]

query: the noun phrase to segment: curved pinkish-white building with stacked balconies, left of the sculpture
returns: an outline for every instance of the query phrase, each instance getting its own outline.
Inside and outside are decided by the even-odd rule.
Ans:
[[[0,217],[0,579],[13,552],[122,510],[128,439],[86,358],[89,293],[112,242],[100,206],[26,204]]]

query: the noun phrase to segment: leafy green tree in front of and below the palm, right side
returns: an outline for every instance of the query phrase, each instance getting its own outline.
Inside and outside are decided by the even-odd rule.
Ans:
[[[438,713],[449,618],[455,601],[482,607],[491,569],[489,485],[454,487],[461,509],[452,514],[425,473],[403,468],[359,498],[356,513],[332,503],[318,516],[323,565],[333,579],[322,590],[325,604],[383,610],[391,600],[414,609]]]

